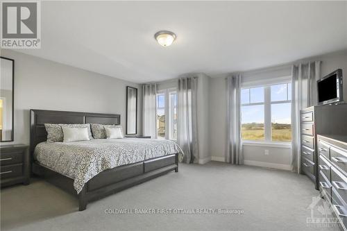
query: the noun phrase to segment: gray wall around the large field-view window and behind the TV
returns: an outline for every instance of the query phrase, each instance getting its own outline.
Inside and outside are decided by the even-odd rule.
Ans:
[[[312,58],[298,60],[321,60],[321,76],[325,76],[335,69],[343,69],[344,74],[344,99],[347,101],[347,51],[339,51],[320,55]],[[282,65],[257,71],[246,71],[244,80],[254,81],[266,78],[288,76],[291,74],[291,65]],[[224,161],[226,151],[226,80],[225,76],[210,79],[210,118],[209,123],[210,155],[212,160]],[[265,150],[269,151],[265,155]],[[279,146],[254,146],[244,145],[245,164],[271,166],[278,169],[289,169],[291,160],[290,148]]]

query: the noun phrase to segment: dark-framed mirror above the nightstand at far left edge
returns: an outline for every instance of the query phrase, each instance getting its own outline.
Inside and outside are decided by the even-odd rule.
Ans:
[[[0,142],[12,142],[15,60],[0,57],[0,70]]]

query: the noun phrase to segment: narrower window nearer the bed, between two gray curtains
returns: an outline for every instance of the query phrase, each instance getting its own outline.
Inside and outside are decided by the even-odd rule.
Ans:
[[[157,94],[158,139],[177,139],[177,93],[176,89],[164,89]]]

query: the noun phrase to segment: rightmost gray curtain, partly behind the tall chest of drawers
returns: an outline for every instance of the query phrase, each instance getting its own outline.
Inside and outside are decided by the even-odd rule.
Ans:
[[[291,167],[297,173],[301,173],[300,110],[317,104],[320,76],[321,61],[291,67]]]

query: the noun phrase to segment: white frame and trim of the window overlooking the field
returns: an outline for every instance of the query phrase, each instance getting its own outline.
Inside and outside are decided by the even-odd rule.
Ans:
[[[262,81],[254,81],[250,83],[243,83],[241,89],[251,89],[255,87],[264,87],[264,102],[262,103],[251,103],[251,96],[249,96],[250,103],[241,103],[240,99],[240,107],[242,106],[251,106],[251,105],[264,105],[264,139],[263,140],[253,140],[253,139],[242,139],[242,143],[246,145],[254,145],[254,144],[262,144],[269,146],[291,146],[291,142],[279,142],[272,140],[272,128],[271,128],[271,105],[280,104],[280,103],[291,103],[291,99],[288,100],[288,89],[287,89],[287,100],[286,101],[271,101],[271,86],[272,85],[280,85],[280,84],[288,84],[291,83],[291,76],[276,78],[276,80],[267,80],[262,83]],[[288,85],[287,85],[288,86]],[[251,94],[251,90],[248,94]],[[293,96],[291,95],[291,98]],[[240,124],[240,131],[242,132],[242,120]]]

